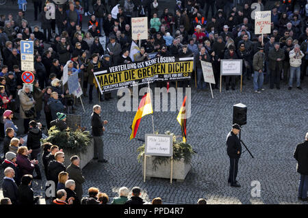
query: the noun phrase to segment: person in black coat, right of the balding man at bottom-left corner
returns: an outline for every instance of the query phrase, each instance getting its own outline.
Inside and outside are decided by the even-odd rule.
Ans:
[[[19,204],[36,204],[40,196],[34,197],[34,191],[30,188],[33,176],[26,174],[21,178],[21,185],[18,187]]]

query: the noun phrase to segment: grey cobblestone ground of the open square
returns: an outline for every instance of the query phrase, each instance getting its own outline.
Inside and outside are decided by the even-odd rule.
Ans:
[[[117,98],[99,103],[95,93],[94,104],[101,105],[103,119],[109,121],[104,136],[108,163],[92,161],[84,168],[84,195],[89,187],[98,187],[112,200],[120,187],[140,186],[145,200],[159,196],[163,202],[172,204],[195,204],[199,197],[206,197],[209,204],[303,204],[297,200],[299,174],[296,173],[293,152],[308,131],[307,81],[306,77],[303,90],[289,91],[287,85],[281,85],[281,90],[269,90],[266,85],[266,91],[261,94],[255,94],[252,81],[248,81],[242,94],[238,87],[235,91],[222,89],[221,94],[214,90],[214,99],[211,99],[209,90],[196,92],[193,88],[192,117],[188,119],[187,135],[197,154],[192,158],[192,170],[185,181],[172,184],[168,179],[159,178],[143,182],[136,153],[142,142],[129,141],[129,126],[135,112],[119,112]],[[89,129],[92,105],[88,105],[88,99],[83,99],[86,113],[81,105],[77,105],[77,113],[82,115],[82,125]],[[229,159],[225,144],[231,129],[232,106],[236,103],[248,107],[242,139],[255,156],[251,159],[248,152],[242,154],[238,174],[240,189],[227,185]],[[154,112],[155,130],[159,133],[169,130],[181,135],[177,113]],[[151,115],[147,115],[142,118],[136,137],[143,139],[145,133],[152,131]],[[41,171],[44,174],[42,168]],[[2,179],[1,171],[0,183]],[[251,182],[254,180],[261,183],[261,197],[251,197]],[[43,195],[44,184],[45,179],[35,180],[36,195]],[[0,196],[1,192],[0,187]]]

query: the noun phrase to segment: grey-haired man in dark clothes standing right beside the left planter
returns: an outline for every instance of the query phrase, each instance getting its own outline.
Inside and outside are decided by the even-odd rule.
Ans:
[[[92,136],[94,139],[94,159],[99,159],[100,163],[107,163],[107,160],[104,159],[104,144],[103,144],[103,132],[105,127],[103,124],[107,124],[107,120],[101,121],[101,106],[94,105],[93,113],[91,114],[91,128]]]

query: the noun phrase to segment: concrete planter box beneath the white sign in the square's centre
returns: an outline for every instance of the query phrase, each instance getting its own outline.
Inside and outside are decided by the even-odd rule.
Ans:
[[[171,162],[169,161],[164,165],[157,165],[157,169],[153,169],[154,156],[146,156],[146,178],[169,178],[171,171]],[[181,161],[173,161],[172,179],[176,179],[178,182],[183,182],[188,172],[190,172],[191,165],[184,163],[184,159]],[[142,175],[144,171],[144,161],[142,161]]]

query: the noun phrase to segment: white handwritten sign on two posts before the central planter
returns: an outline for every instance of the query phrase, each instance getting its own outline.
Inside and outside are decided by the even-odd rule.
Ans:
[[[161,134],[146,134],[145,135],[144,154],[151,156],[172,156],[172,136]]]

